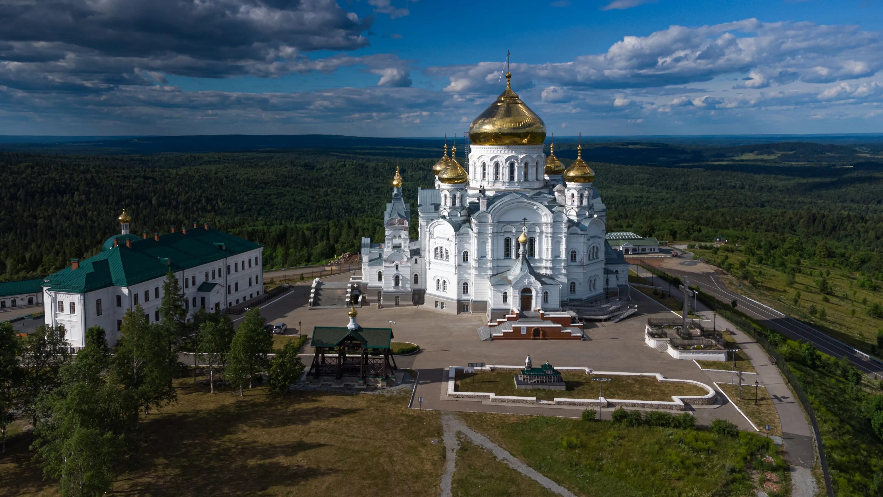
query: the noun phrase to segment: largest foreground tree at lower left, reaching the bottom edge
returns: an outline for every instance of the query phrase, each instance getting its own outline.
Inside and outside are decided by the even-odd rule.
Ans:
[[[36,457],[64,496],[107,493],[134,448],[137,399],[119,388],[110,366],[104,330],[89,328],[86,346],[61,368],[59,387],[41,395]]]

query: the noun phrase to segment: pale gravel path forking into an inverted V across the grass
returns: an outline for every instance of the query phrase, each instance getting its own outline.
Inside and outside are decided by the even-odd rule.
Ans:
[[[558,485],[551,479],[541,475],[540,472],[535,471],[527,464],[519,461],[515,456],[509,454],[509,452],[495,444],[493,441],[490,441],[486,436],[472,431],[469,426],[464,425],[462,421],[455,418],[454,415],[449,412],[442,414],[442,429],[444,430],[442,439],[444,440],[447,457],[445,461],[445,472],[442,475],[442,497],[448,497],[451,494],[450,482],[451,478],[454,476],[454,460],[457,457],[457,448],[459,448],[460,445],[457,442],[457,432],[466,435],[470,441],[479,447],[490,450],[497,459],[501,460],[503,463],[507,463],[510,468],[525,475],[527,478],[531,478],[552,492],[555,492],[558,495],[564,495],[565,497],[577,497],[563,486]]]

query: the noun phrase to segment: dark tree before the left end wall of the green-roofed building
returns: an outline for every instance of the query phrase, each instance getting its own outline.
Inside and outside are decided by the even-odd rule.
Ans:
[[[37,400],[60,384],[58,371],[71,358],[63,326],[43,325],[21,341],[22,414],[37,425]]]

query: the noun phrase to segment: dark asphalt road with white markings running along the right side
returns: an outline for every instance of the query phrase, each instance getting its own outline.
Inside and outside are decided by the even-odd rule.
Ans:
[[[851,348],[845,348],[841,343],[834,340],[834,338],[810,328],[800,321],[791,319],[782,313],[772,311],[764,305],[755,304],[748,298],[733,293],[727,289],[727,286],[723,283],[719,275],[714,273],[679,271],[672,267],[660,267],[660,269],[675,276],[686,276],[690,278],[691,285],[698,286],[701,290],[714,297],[720,298],[724,302],[731,302],[736,299],[738,301],[736,308],[739,311],[760,321],[760,323],[766,327],[772,328],[789,338],[812,343],[815,345],[816,349],[829,356],[834,356],[835,358],[849,358],[859,370],[869,374],[872,378],[883,380],[883,365],[864,358]],[[662,282],[660,283],[660,286],[666,286],[666,284],[667,283]]]

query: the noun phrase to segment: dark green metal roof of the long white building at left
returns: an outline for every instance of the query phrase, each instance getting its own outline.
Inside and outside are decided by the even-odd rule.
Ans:
[[[131,237],[128,237],[132,239]],[[113,238],[111,238],[112,240]],[[124,238],[125,239],[125,238]],[[111,241],[111,244],[113,242]],[[194,228],[160,236],[132,239],[132,247],[112,246],[46,278],[52,290],[85,293],[109,286],[125,287],[260,248],[240,237],[209,228]]]

